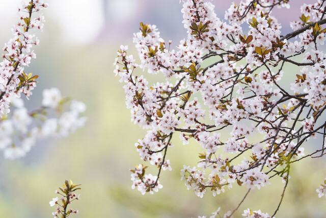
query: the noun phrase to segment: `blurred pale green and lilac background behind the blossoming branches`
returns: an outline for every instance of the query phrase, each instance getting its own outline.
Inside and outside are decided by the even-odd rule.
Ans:
[[[11,37],[19,2],[0,0],[2,44]],[[203,149],[196,143],[182,146],[178,137],[174,138],[175,147],[168,150],[173,170],[160,176],[164,188],[145,196],[131,189],[129,169],[139,163],[150,164],[140,159],[134,147],[145,131],[130,122],[123,84],[113,74],[112,63],[120,44],[129,45],[130,53],[137,56],[132,33],[138,31],[140,21],[156,24],[161,36],[172,39],[174,45],[185,38],[179,1],[47,2],[50,6],[44,11],[44,31],[37,32],[37,59],[26,70],[40,75],[40,83],[26,104],[36,108],[44,88],[58,87],[64,96],[86,103],[88,121],[68,138],[41,141],[24,158],[0,159],[0,217],[51,217],[55,208],[48,202],[56,197],[55,190],[65,179],[82,184],[80,200],[72,204],[79,214],[72,217],[197,217],[210,215],[218,207],[222,214],[235,208],[246,188],[234,187],[216,197],[207,190],[202,199],[186,189],[180,181],[180,169],[183,164],[197,165],[198,153]],[[291,14],[278,11],[279,20],[297,19],[303,2],[313,1],[295,1]],[[216,13],[223,18],[230,2],[213,3],[219,4]],[[287,31],[289,24],[283,27]],[[296,73],[296,69],[287,70],[292,70],[285,70],[288,78]],[[146,72],[139,70],[137,74]],[[151,77],[150,82],[158,79],[161,77]],[[311,141],[306,148],[313,149],[320,146],[318,143]],[[326,216],[326,199],[319,199],[315,191],[326,177],[324,161],[324,157],[306,159],[291,167],[291,179],[277,217]],[[149,171],[156,174],[157,169],[151,166]],[[278,178],[270,182],[267,188],[252,191],[235,217],[247,208],[273,214],[283,184]]]

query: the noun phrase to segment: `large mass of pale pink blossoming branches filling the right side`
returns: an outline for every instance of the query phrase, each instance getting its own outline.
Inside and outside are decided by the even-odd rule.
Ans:
[[[290,166],[306,157],[321,157],[326,149],[326,55],[321,50],[326,40],[325,1],[304,4],[300,20],[290,22],[289,33],[281,32],[273,16],[275,8],[290,8],[289,0],[232,3],[225,21],[208,1],[180,2],[187,39],[171,49],[171,41],[160,38],[156,26],[141,22],[133,37],[141,63],[127,55],[127,46],[120,47],[114,63],[125,83],[133,122],[148,129],[135,143],[137,151],[158,167],[156,176],[146,174],[143,164],[132,169],[132,188],[143,195],[162,188],[158,178],[162,170],[171,170],[167,151],[173,147],[172,137],[183,144],[194,140],[206,152],[199,154],[197,167],[181,169],[188,189],[203,197],[206,191],[215,196],[239,185],[248,189],[244,200],[251,189],[280,177],[285,185],[271,215],[250,209],[242,214],[274,217]],[[299,70],[287,73],[290,81],[284,86],[286,66]],[[144,76],[133,74],[137,67],[161,73],[165,81],[149,86]],[[306,155],[304,142],[314,137],[322,143]],[[323,196],[325,185],[317,192]],[[238,207],[224,217],[231,217]],[[219,212],[220,208],[211,217]]]

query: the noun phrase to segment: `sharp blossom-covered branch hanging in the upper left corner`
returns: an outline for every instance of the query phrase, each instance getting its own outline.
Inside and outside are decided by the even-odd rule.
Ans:
[[[13,37],[5,43],[0,62],[0,116],[9,113],[10,101],[20,98],[21,94],[27,97],[32,94],[38,76],[25,74],[24,67],[29,66],[32,58],[36,58],[33,45],[39,44],[39,39],[31,30],[42,30],[44,16],[40,11],[47,8],[42,0],[32,0],[29,4],[24,2],[18,7],[20,20],[13,27]],[[37,16],[32,14],[37,12]]]

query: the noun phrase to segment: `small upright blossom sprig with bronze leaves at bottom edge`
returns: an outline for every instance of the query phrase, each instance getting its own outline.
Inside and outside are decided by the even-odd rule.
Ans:
[[[52,215],[57,218],[57,217],[62,217],[62,218],[68,218],[69,215],[73,214],[73,213],[78,213],[78,210],[74,210],[74,209],[68,209],[68,205],[71,204],[73,201],[75,200],[79,200],[80,199],[80,194],[78,196],[76,196],[76,194],[74,193],[76,190],[79,190],[81,188],[79,188],[77,184],[74,184],[71,180],[65,181],[65,184],[63,184],[62,187],[59,187],[59,190],[56,190],[56,193],[61,195],[62,197],[60,198],[60,203],[59,203],[59,198],[53,198],[52,201],[49,202],[50,206],[56,206],[56,211],[52,212]]]

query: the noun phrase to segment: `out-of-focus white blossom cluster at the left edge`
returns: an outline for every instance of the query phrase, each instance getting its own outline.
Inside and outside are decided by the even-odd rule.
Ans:
[[[86,122],[80,117],[85,104],[63,98],[58,88],[44,89],[41,107],[32,111],[21,98],[11,98],[13,110],[0,120],[0,150],[8,159],[25,156],[39,140],[66,137]]]

